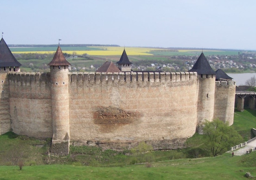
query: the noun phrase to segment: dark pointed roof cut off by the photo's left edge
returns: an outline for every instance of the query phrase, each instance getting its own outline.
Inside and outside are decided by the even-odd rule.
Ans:
[[[21,64],[13,56],[11,50],[3,40],[0,40],[0,67],[20,67]]]

